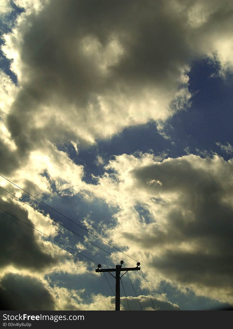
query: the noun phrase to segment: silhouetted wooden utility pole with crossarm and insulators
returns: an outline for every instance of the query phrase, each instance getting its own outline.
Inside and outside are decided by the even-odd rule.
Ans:
[[[110,272],[116,272],[116,276],[112,275],[115,279],[116,279],[116,303],[115,303],[115,311],[119,311],[120,310],[120,279],[122,278],[122,276],[127,273],[128,271],[138,271],[141,268],[139,267],[140,263],[137,263],[136,267],[125,267],[123,268],[124,274],[122,274],[120,276],[120,272],[122,271],[121,266],[122,264],[124,264],[123,261],[120,261],[120,265],[116,265],[116,268],[100,268],[101,264],[98,264],[98,268],[96,268],[95,272],[99,273],[99,272],[108,272],[109,274],[111,274]]]

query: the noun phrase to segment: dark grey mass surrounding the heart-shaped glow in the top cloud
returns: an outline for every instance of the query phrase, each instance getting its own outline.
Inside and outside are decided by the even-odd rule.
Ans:
[[[16,30],[22,42],[11,39],[21,90],[6,119],[20,157],[47,139],[88,142],[80,124],[95,139],[103,136],[103,124],[112,135],[141,123],[124,99],[132,103],[151,92],[172,99],[190,58],[185,19],[153,1],[52,0],[22,20]],[[167,110],[155,108],[145,117],[159,118],[159,111]]]

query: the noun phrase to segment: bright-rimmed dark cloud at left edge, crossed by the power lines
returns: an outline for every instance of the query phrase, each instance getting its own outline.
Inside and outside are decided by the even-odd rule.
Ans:
[[[55,272],[77,275],[89,272],[83,260],[76,259],[76,255],[61,248],[61,245],[52,243],[52,240],[44,240],[43,234],[21,223],[11,215],[46,235],[64,242],[64,229],[61,229],[61,226],[28,205],[11,199],[6,192],[1,193],[0,208],[6,213],[1,211],[0,214],[1,240],[3,242],[0,277],[11,272],[34,276],[37,279]],[[67,231],[65,233],[67,235]],[[58,235],[60,236],[57,237]],[[70,243],[68,245],[72,247]]]

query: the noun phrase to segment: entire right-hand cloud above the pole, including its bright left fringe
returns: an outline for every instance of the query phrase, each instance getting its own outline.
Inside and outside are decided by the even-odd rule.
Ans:
[[[232,160],[121,155],[107,168],[114,174],[92,192],[118,204],[118,225],[108,233],[146,266],[151,288],[167,280],[232,303]]]

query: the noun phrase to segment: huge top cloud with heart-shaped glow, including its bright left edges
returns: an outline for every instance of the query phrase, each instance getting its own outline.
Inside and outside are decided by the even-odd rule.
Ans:
[[[193,60],[209,56],[221,70],[231,67],[230,56],[222,55],[232,47],[227,1],[15,3],[25,12],[2,45],[18,80],[15,87],[1,73],[6,174],[29,162],[37,167],[34,154],[50,155],[51,145],[71,142],[78,151],[132,125],[155,120],[163,127],[189,107]],[[53,167],[55,152],[48,160]]]

